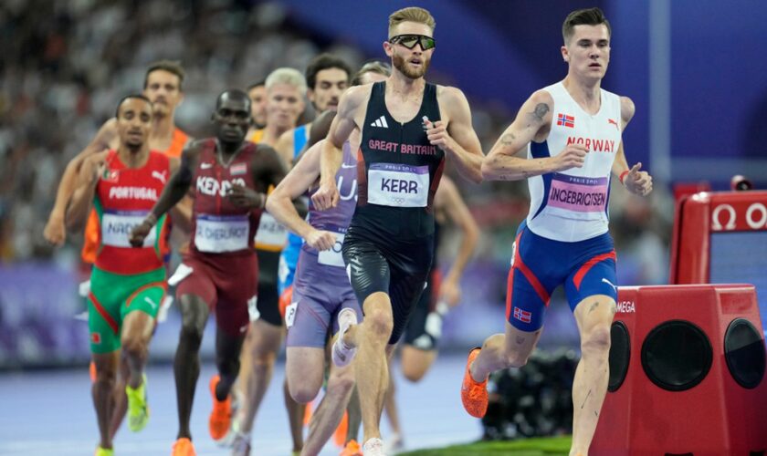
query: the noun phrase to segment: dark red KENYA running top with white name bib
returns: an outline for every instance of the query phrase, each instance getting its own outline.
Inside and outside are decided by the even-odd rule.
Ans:
[[[193,254],[252,254],[261,211],[241,209],[226,193],[233,184],[255,189],[251,163],[257,145],[248,142],[227,166],[218,161],[215,140],[205,140],[194,172]]]

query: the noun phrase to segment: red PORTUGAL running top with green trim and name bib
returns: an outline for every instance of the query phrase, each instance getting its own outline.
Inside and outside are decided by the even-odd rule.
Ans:
[[[116,150],[110,150],[106,169],[96,185],[94,206],[99,217],[100,243],[96,267],[116,274],[142,274],[163,267],[167,217],[163,215],[141,248],[131,247],[131,229],[142,223],[160,198],[171,175],[168,157],[150,151],[146,163],[127,168]]]

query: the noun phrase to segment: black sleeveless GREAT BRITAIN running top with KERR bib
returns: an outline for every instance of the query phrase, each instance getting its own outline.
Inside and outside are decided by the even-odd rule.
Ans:
[[[384,101],[386,83],[373,84],[358,152],[359,193],[352,227],[399,239],[434,233],[434,194],[445,152],[429,144],[424,117],[436,122],[436,86],[426,84],[421,109],[400,123]]]

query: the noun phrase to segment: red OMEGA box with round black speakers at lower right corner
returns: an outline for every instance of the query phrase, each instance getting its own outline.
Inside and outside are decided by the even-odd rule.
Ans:
[[[752,285],[620,288],[589,454],[765,454],[762,334]]]

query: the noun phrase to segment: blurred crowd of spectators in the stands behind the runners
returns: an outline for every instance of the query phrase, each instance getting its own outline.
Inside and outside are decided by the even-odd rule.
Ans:
[[[34,12],[34,14],[32,14]],[[303,71],[322,51],[359,67],[370,58],[352,44],[301,29],[278,3],[238,0],[4,0],[0,3],[0,259],[77,263],[79,235],[54,250],[42,237],[67,162],[88,144],[121,96],[141,91],[147,63],[180,60],[184,103],[176,124],[209,133],[215,96],[246,88],[277,67]],[[439,58],[438,55],[436,58]],[[563,75],[562,75],[563,77]],[[428,75],[432,81],[449,75]],[[553,81],[541,81],[541,86]],[[515,107],[469,99],[487,152]],[[520,104],[523,100],[520,100]],[[304,118],[311,119],[313,113]],[[627,147],[631,162],[631,148]],[[448,171],[449,172],[449,171]],[[460,182],[459,182],[460,183]],[[643,200],[614,185],[612,233],[622,283],[667,281],[673,202],[657,187]],[[461,183],[483,235],[478,259],[508,264],[513,234],[528,209],[527,184]],[[443,243],[442,258],[455,243]]]

